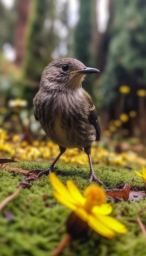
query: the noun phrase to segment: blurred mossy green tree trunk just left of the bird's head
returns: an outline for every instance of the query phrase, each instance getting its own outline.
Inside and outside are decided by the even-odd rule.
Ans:
[[[51,25],[46,29],[44,22],[49,11]],[[28,22],[27,49],[24,58],[23,98],[29,106],[33,105],[33,97],[38,91],[40,78],[44,67],[52,61],[54,2],[48,0],[33,0],[31,15]],[[28,93],[29,92],[29,93]]]

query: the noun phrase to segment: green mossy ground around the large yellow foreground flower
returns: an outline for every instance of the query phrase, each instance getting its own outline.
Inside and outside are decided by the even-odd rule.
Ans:
[[[46,168],[46,163],[19,162],[11,164],[31,170]],[[142,190],[144,182],[133,170],[123,167],[93,166],[97,177],[108,188],[116,188],[119,184],[129,182],[131,188]],[[12,167],[13,168],[13,167]],[[133,166],[135,168],[135,166]],[[141,167],[135,168],[137,171]],[[88,166],[69,166],[57,164],[55,172],[62,180],[73,180],[76,186],[84,191],[89,185]],[[0,170],[0,202],[17,189],[22,181],[21,173],[12,170]],[[59,204],[53,197],[53,188],[49,178],[42,176],[33,182],[30,189],[22,189],[20,194],[0,212],[0,256],[51,256],[51,252],[58,246],[66,234],[65,221],[71,212]],[[113,206],[112,216],[126,225],[126,234],[116,234],[108,240],[89,230],[88,238],[75,240],[67,245],[62,256],[144,256],[146,255],[146,237],[142,235],[136,221],[136,214],[146,208],[146,201],[110,202]],[[11,213],[10,220],[6,218]],[[146,225],[146,212],[140,215]]]

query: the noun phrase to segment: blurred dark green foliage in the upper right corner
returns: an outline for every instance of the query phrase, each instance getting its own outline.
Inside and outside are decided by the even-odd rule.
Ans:
[[[137,108],[136,91],[146,88],[146,2],[114,1],[113,30],[103,77],[104,106],[118,96],[120,85],[129,85],[128,110]]]

